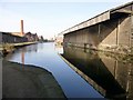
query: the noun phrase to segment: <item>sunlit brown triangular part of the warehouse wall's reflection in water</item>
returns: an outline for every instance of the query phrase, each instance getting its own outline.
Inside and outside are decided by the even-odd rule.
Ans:
[[[99,56],[115,80],[127,92],[127,98],[133,98],[133,63],[122,62],[105,54]]]

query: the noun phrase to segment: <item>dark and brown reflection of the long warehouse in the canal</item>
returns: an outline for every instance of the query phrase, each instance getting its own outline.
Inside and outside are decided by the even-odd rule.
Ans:
[[[63,57],[81,77],[92,84],[105,98],[132,98],[132,63],[123,63],[116,59],[84,52],[79,48],[64,48]],[[129,92],[126,94],[126,92]]]

